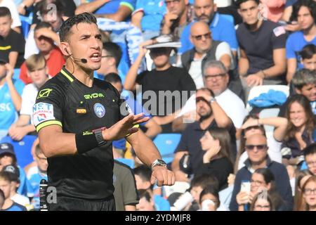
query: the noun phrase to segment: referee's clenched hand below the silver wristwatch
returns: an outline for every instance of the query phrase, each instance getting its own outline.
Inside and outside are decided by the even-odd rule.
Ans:
[[[166,167],[155,166],[152,168],[152,177],[150,179],[150,183],[154,184],[157,180],[157,186],[173,186],[176,181],[176,176],[174,172],[170,171]]]

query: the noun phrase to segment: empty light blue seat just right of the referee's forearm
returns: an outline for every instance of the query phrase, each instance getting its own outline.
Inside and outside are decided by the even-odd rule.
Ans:
[[[174,151],[180,142],[181,134],[158,134],[154,139],[162,159],[168,164],[173,161]]]

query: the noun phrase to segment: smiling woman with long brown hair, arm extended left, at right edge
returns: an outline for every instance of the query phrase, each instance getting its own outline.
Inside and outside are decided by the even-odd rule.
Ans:
[[[244,127],[258,124],[275,127],[273,136],[282,142],[282,162],[284,165],[301,166],[303,149],[314,142],[315,131],[314,114],[310,108],[308,98],[303,95],[291,96],[287,101],[286,118],[267,117],[258,120],[248,120]]]

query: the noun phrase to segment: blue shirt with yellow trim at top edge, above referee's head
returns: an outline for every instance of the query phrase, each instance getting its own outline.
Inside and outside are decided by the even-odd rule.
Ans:
[[[88,2],[96,0],[88,0]],[[112,0],[94,11],[94,14],[111,14],[116,13],[119,10],[119,6],[127,6],[134,11],[136,0]]]

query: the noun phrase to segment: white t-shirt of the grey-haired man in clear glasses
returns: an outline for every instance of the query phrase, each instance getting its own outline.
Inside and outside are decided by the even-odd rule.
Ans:
[[[242,122],[244,121],[244,117],[247,115],[246,108],[244,106],[244,102],[240,99],[235,93],[230,91],[230,89],[226,89],[222,94],[215,97],[218,105],[225,111],[225,113],[230,117],[232,122],[234,123],[236,128],[242,127]],[[191,111],[196,110],[195,104],[195,94],[192,95],[177,117],[185,115],[186,113],[190,113]]]

